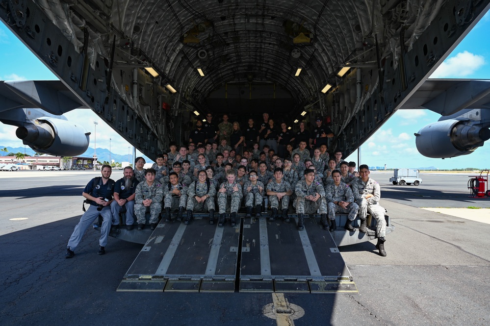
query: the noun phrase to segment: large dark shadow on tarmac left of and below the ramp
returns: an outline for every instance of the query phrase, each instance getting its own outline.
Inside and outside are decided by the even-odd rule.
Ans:
[[[276,325],[262,311],[273,302],[270,293],[116,292],[142,245],[109,237],[99,256],[100,233],[89,228],[75,257],[65,259],[79,218],[0,236],[2,325]],[[305,310],[301,325],[331,324],[335,302],[351,301],[347,295],[285,297]],[[365,314],[357,306],[349,313]]]

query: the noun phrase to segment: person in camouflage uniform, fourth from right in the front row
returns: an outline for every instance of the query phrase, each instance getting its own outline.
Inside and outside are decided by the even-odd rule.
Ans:
[[[274,221],[278,217],[277,210],[279,209],[279,201],[281,201],[281,216],[284,223],[289,223],[287,209],[289,206],[289,198],[292,195],[291,185],[283,179],[283,169],[274,169],[274,180],[267,184],[265,188],[269,203],[271,205],[272,214],[269,221]]]

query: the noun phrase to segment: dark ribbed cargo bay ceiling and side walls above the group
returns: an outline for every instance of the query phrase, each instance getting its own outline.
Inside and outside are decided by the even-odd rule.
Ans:
[[[268,111],[290,125],[328,115],[330,148],[348,154],[413,94],[489,2],[16,0],[1,2],[0,18],[150,157],[195,110]]]

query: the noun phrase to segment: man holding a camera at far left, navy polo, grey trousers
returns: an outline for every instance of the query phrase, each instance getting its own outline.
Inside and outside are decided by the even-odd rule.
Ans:
[[[110,210],[110,204],[112,202],[112,195],[114,193],[114,180],[110,179],[112,169],[110,165],[104,164],[101,169],[102,177],[98,176],[90,180],[90,182],[83,189],[82,195],[86,198],[90,207],[85,213],[83,213],[73,230],[70,240],[68,241],[67,251],[65,258],[72,258],[75,255],[75,249],[77,249],[83,234],[89,226],[92,225],[94,220],[102,215],[103,222],[101,226],[101,238],[99,239],[99,252],[103,255],[105,253],[105,245],[107,244],[107,235],[109,234],[110,226],[112,224],[112,214]]]

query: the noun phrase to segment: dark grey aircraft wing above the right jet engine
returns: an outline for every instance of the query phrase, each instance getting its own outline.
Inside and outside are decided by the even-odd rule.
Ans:
[[[401,109],[428,109],[449,116],[490,107],[490,79],[427,79]]]

